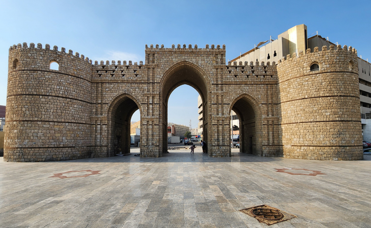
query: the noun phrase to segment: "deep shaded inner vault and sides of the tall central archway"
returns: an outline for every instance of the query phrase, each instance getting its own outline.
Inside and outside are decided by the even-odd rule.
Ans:
[[[200,94],[203,103],[203,140],[208,141],[208,127],[209,121],[209,94],[211,88],[211,82],[207,74],[201,70],[197,64],[190,61],[180,61],[169,67],[163,74],[161,80],[160,98],[161,98],[161,114],[160,119],[162,120],[162,153],[167,152],[167,112],[168,112],[168,99],[170,94],[175,88],[181,85],[188,85],[197,90]],[[180,101],[183,102],[183,101]],[[210,152],[210,151],[209,151]],[[160,154],[161,156],[161,154]]]

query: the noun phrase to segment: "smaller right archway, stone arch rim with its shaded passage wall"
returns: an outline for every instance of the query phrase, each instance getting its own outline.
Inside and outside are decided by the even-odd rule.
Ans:
[[[243,93],[233,98],[233,110],[240,122],[240,152],[263,156],[262,104],[251,95]]]

